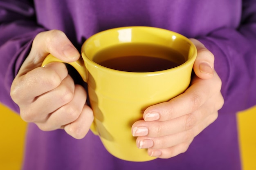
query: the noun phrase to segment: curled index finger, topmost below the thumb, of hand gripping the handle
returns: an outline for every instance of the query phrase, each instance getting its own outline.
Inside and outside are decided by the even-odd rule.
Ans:
[[[35,68],[14,79],[10,94],[14,102],[29,104],[35,97],[59,86],[67,74],[67,68],[63,63],[50,63],[45,68]]]

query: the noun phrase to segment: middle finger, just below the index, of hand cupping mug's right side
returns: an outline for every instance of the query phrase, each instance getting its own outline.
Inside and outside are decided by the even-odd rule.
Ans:
[[[220,93],[216,94],[216,96],[218,98],[222,97]],[[223,102],[221,100],[216,102],[216,98],[215,96],[211,97],[211,99],[195,112],[175,119],[166,121],[137,121],[132,125],[132,135],[162,137],[190,130],[222,107]],[[214,102],[216,104],[213,104]]]

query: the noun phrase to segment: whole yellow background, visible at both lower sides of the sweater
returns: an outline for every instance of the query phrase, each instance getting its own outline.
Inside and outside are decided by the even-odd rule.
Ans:
[[[256,107],[238,113],[243,170],[256,170]],[[0,105],[0,170],[20,170],[27,124]]]

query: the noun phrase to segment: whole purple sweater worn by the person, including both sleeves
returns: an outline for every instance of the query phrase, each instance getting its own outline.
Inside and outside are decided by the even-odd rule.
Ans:
[[[215,55],[225,105],[189,149],[171,159],[128,162],[91,132],[81,140],[29,124],[24,170],[240,170],[236,112],[256,104],[255,0],[0,0],[0,102],[40,31],[59,29],[80,50],[99,31],[155,26],[197,38]],[[18,141],[17,141],[18,142]]]

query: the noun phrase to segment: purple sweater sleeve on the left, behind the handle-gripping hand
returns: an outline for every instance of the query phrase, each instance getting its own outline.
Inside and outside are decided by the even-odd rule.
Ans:
[[[0,1],[0,102],[17,113],[19,108],[10,97],[11,83],[41,31],[45,29],[36,24],[32,2]]]

